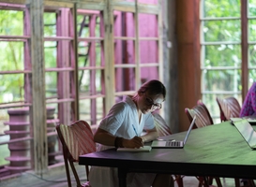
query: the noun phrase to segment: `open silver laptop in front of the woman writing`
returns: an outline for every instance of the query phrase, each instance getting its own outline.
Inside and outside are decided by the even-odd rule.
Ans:
[[[186,141],[188,139],[188,136],[194,126],[194,123],[196,121],[196,116],[194,116],[193,121],[190,123],[190,126],[188,128],[188,132],[186,137],[184,138],[183,141],[175,141],[175,140],[171,140],[171,141],[164,141],[164,140],[154,140],[151,144],[152,148],[184,148]]]

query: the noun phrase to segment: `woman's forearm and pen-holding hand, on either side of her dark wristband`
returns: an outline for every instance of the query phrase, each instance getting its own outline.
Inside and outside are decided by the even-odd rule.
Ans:
[[[95,135],[94,141],[106,146],[115,146],[116,137],[109,132],[98,128]],[[124,148],[140,148],[143,147],[142,137],[133,137],[131,139],[121,138],[121,146]]]

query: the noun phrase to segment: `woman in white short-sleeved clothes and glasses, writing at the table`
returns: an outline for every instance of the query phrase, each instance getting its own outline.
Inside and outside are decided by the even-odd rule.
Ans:
[[[152,111],[161,108],[165,100],[165,86],[153,79],[145,82],[138,92],[113,105],[100,122],[95,133],[98,151],[109,148],[140,148],[143,143],[158,137]],[[146,134],[141,136],[143,130]],[[125,166],[125,165],[124,165]],[[89,173],[92,187],[118,186],[117,168],[92,166]],[[173,186],[172,175],[152,173],[128,173],[128,187]]]

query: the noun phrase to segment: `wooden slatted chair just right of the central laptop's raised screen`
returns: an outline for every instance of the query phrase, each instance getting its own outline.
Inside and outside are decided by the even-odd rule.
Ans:
[[[202,128],[207,125],[213,124],[213,119],[209,113],[209,110],[206,108],[201,100],[199,100],[197,102],[197,105],[193,108],[185,108],[185,113],[188,116],[189,122],[192,122],[194,116],[196,116],[197,119],[195,125],[197,128]],[[213,179],[216,180],[218,187],[222,187],[221,181],[218,177],[208,177],[206,179],[203,177],[198,177],[198,180],[200,181],[199,186],[204,186],[205,182],[209,182],[210,184],[212,184]]]

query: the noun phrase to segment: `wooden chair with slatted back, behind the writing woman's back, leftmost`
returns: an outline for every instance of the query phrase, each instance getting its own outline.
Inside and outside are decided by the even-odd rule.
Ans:
[[[84,121],[74,122],[71,125],[58,124],[56,126],[58,137],[63,146],[63,156],[68,178],[68,187],[71,187],[68,163],[72,169],[77,186],[89,186],[88,182],[81,184],[74,163],[78,163],[79,156],[96,151],[93,133],[90,125]],[[88,181],[89,166],[85,165]]]

